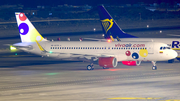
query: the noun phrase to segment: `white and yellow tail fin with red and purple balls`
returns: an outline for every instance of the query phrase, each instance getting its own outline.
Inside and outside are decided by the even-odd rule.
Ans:
[[[24,13],[15,12],[21,42],[47,41],[32,25]]]

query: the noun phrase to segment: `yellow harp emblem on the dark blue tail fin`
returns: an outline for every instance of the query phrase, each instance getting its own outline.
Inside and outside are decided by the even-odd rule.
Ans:
[[[104,19],[104,20],[101,20],[101,22],[106,33],[109,31],[109,29],[113,26],[113,23],[114,23],[113,19]]]

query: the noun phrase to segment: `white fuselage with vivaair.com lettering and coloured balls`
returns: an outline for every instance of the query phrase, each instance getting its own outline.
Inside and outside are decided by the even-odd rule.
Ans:
[[[18,46],[24,43],[18,43]],[[26,44],[30,49],[20,48],[24,51],[54,58],[87,58],[116,57],[117,61],[163,61],[173,59],[177,53],[159,42],[95,42],[95,41],[46,41],[39,44],[47,52],[42,52],[36,42]],[[16,44],[14,44],[16,46]]]

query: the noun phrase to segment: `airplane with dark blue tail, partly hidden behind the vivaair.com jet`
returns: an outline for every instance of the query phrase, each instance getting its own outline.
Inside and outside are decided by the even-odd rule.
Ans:
[[[175,50],[178,53],[176,59],[180,61],[180,38],[138,38],[137,36],[125,33],[118,26],[116,21],[111,17],[109,12],[105,9],[103,5],[98,6],[98,13],[103,33],[105,33],[105,39],[111,39],[113,41],[153,41],[166,43],[168,46],[170,46],[173,50]],[[168,60],[168,63],[173,62],[174,59]]]

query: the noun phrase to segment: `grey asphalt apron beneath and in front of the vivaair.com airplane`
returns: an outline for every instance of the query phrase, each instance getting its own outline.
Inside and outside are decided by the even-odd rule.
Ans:
[[[180,101],[180,63],[102,69],[18,53],[0,54],[1,101]]]

